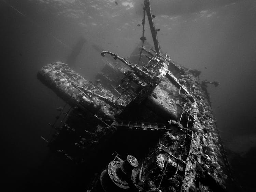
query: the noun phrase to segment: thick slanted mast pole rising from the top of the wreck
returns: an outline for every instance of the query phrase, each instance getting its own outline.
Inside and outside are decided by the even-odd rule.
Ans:
[[[144,0],[144,5],[146,8],[146,12],[147,12],[148,23],[150,25],[150,30],[151,30],[152,38],[154,41],[155,50],[156,50],[156,53],[160,54],[159,43],[158,43],[158,39],[156,36],[156,29],[155,29],[155,26],[153,23],[152,15],[151,15],[150,1]]]

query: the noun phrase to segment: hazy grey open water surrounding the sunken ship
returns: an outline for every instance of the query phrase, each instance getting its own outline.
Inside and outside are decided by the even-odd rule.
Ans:
[[[1,181],[8,187],[4,191],[47,185],[44,180],[53,175],[33,178],[49,157],[40,137],[51,138],[54,131],[47,124],[55,120],[56,107],[65,103],[37,79],[40,68],[66,62],[82,37],[87,42],[72,68],[93,80],[104,63],[91,45],[128,57],[140,42],[142,27],[137,25],[143,1],[117,2],[0,0]],[[208,88],[217,124],[243,191],[255,191],[256,1],[151,4],[162,51],[202,71],[200,79],[221,83]],[[145,30],[153,44],[147,21]]]

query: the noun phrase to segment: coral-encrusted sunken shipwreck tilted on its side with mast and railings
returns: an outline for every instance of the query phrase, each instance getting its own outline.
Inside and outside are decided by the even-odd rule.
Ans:
[[[54,62],[38,79],[67,105],[49,147],[83,167],[84,191],[232,191],[230,165],[200,71],[162,54],[149,0],[142,46],[130,61],[111,56],[90,82]],[[145,17],[154,48],[144,46]],[[100,56],[100,55],[99,55]],[[131,62],[132,61],[132,62]],[[68,110],[64,110],[70,106]]]

